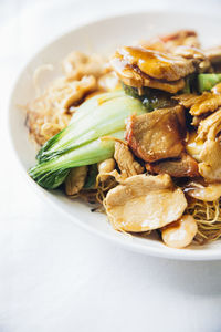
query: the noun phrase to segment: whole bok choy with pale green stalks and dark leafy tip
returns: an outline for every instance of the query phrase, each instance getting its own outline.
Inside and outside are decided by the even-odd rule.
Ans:
[[[114,155],[114,139],[124,139],[125,121],[131,114],[143,114],[141,102],[123,91],[96,95],[74,113],[71,124],[49,139],[40,149],[38,164],[29,170],[42,187],[54,189],[67,176],[70,168],[99,163]]]

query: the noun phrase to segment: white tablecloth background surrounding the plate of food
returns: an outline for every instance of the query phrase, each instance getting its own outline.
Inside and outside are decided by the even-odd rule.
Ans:
[[[76,228],[35,196],[7,133],[25,61],[88,20],[139,9],[220,11],[220,1],[0,0],[0,332],[221,331],[221,262],[125,251]]]

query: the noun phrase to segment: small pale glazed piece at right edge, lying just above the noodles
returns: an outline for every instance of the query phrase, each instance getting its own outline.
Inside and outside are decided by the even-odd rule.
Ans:
[[[186,186],[185,193],[196,199],[214,201],[221,197],[221,184],[191,181]]]

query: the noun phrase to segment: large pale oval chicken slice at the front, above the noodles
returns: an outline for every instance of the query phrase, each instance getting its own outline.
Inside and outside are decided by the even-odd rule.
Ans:
[[[110,189],[105,199],[107,216],[117,230],[140,232],[180,218],[187,200],[169,175],[135,175]]]

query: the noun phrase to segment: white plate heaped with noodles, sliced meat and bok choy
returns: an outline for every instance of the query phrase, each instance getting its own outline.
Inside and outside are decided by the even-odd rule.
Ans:
[[[219,18],[133,13],[27,64],[9,104],[30,185],[84,229],[166,258],[221,258]]]

